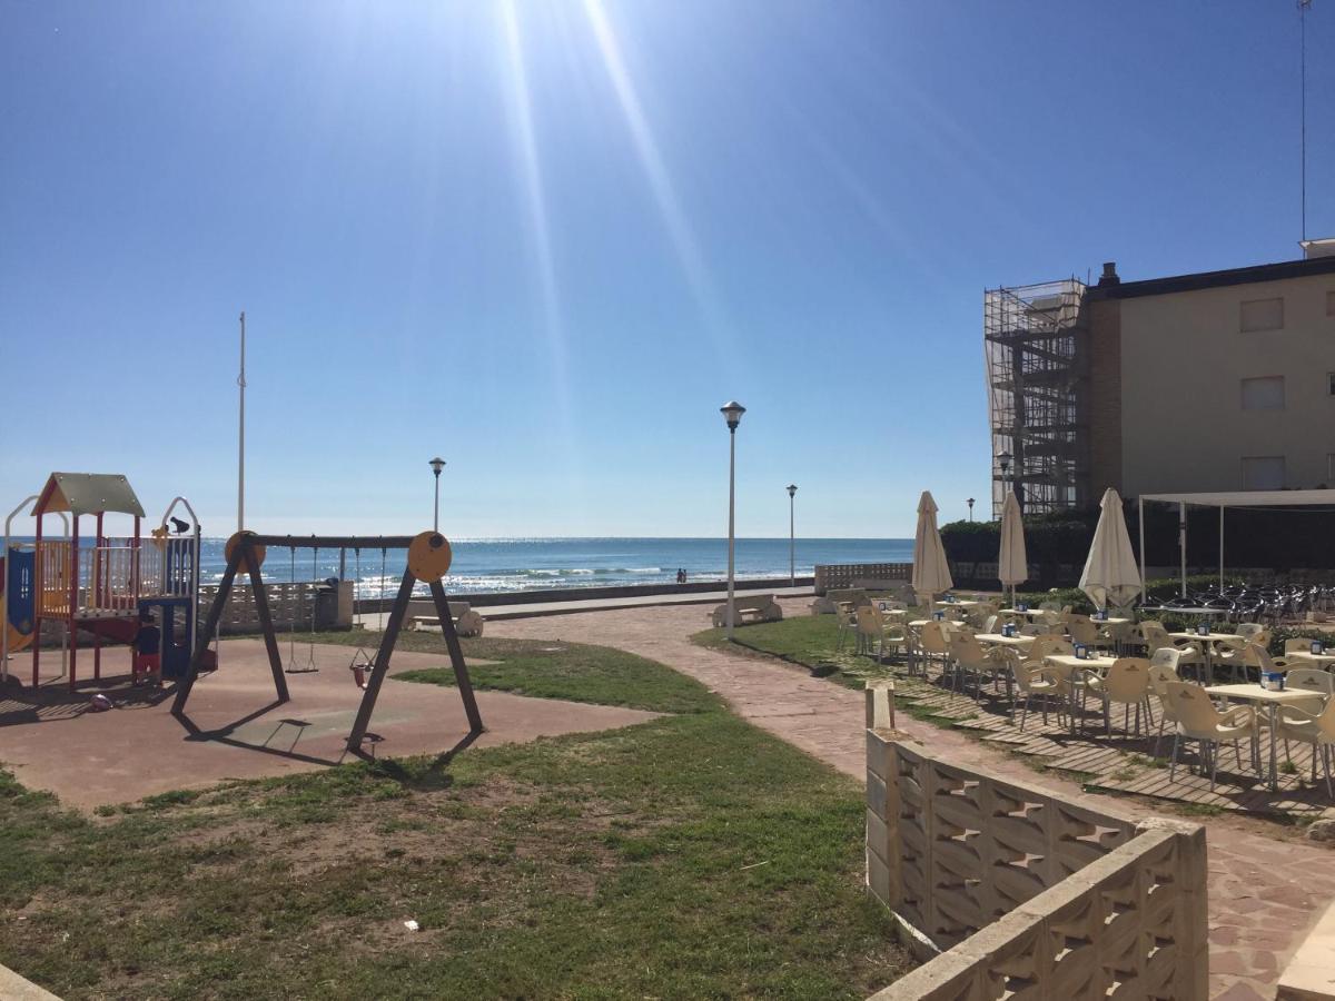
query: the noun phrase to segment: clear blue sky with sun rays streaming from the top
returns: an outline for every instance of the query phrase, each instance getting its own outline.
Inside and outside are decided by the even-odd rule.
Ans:
[[[740,534],[882,537],[988,496],[985,287],[1298,256],[1290,0],[0,0],[0,506],[212,534],[243,308],[251,527],[721,535],[737,398]]]

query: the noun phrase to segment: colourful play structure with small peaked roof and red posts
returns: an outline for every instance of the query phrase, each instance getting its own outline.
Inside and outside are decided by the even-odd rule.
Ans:
[[[31,505],[33,541],[12,541],[13,521]],[[190,521],[175,517],[178,507]],[[103,533],[107,514],[129,515],[129,535]],[[47,531],[57,515],[61,534]],[[93,518],[93,534],[80,535],[80,519]],[[9,654],[32,647],[32,686],[40,685],[43,622],[60,625],[61,657],[69,689],[79,683],[79,635],[93,641],[92,677],[101,678],[104,641],[128,643],[131,673],[160,669],[183,677],[196,641],[200,526],[186,498],[178,496],[162,523],[140,535],[144,510],[120,474],[52,472],[40,494],[23,500],[5,521],[0,671],[8,679]],[[158,631],[156,654],[140,650],[142,623]]]

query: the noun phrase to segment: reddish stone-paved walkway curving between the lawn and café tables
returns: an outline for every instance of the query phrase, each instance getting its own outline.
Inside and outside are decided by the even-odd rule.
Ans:
[[[790,615],[805,602],[786,601]],[[698,678],[733,710],[797,747],[865,781],[864,698],[858,691],[810,678],[758,658],[706,650],[689,637],[708,626],[698,607],[654,607],[498,622],[487,635],[601,643],[649,657]],[[901,717],[898,727],[933,750],[992,774],[1049,786],[1096,809],[1105,799],[1071,782],[1036,774],[1023,763],[961,733]],[[1123,813],[1149,815],[1131,799]],[[1210,819],[1206,819],[1210,826]],[[1215,825],[1208,831],[1211,997],[1274,998],[1279,972],[1335,900],[1330,850]]]

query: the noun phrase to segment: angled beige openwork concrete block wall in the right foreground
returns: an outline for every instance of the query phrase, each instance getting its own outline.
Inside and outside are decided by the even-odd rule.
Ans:
[[[888,698],[868,690],[869,719]],[[928,960],[877,1001],[1207,996],[1200,825],[1089,810],[885,729],[866,751],[868,888]]]

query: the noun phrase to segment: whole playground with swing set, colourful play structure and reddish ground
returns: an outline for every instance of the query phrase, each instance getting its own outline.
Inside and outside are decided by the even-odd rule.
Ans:
[[[33,519],[31,542],[12,535],[25,514]],[[109,537],[108,515],[129,519],[128,534]],[[48,527],[53,518],[59,534]],[[88,519],[92,535],[80,537],[80,522]],[[202,530],[190,502],[172,499],[147,537],[143,519],[124,475],[53,472],[5,522],[3,761],[25,786],[67,803],[97,807],[230,778],[283,775],[352,758],[449,754],[654,715],[475,693],[442,585],[450,543],[437,531],[336,538],[239,531],[228,541],[227,569],[206,607]],[[366,646],[318,645],[314,603],[299,654],[295,625],[280,643],[263,574],[274,547],[286,547],[292,566],[298,551],[320,549],[351,551],[358,561],[363,550],[379,550],[382,562],[387,550],[407,553],[398,595],[379,617],[380,629],[363,637]],[[219,622],[240,594],[239,578],[248,578],[244,597],[260,637],[223,641]],[[400,651],[392,666],[445,669],[451,687],[386,685],[419,586],[430,591],[445,649]],[[16,670],[19,659],[9,654],[19,651],[31,657],[31,673]]]

